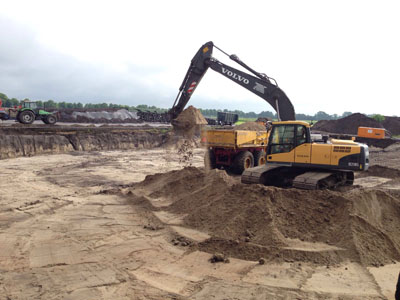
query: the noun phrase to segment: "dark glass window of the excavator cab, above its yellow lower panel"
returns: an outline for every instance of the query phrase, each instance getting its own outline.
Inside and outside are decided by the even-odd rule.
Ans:
[[[268,154],[286,153],[294,148],[294,125],[277,125],[272,129]]]

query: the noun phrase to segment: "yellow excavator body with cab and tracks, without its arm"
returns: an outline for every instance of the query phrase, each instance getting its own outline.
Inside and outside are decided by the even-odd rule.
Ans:
[[[365,144],[327,137],[312,140],[307,122],[273,122],[266,164],[244,170],[241,181],[300,189],[335,188],[352,185],[354,171],[366,171],[368,166]]]

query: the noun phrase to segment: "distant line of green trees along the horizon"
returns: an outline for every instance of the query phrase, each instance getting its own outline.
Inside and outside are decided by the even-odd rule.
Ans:
[[[8,98],[6,94],[0,93],[0,100],[2,100],[3,107],[14,107],[22,104],[23,101],[29,100],[29,99],[24,99],[24,100],[18,100],[16,98]],[[79,108],[79,109],[93,109],[93,108],[124,108],[127,110],[142,110],[142,111],[151,111],[151,112],[157,112],[157,113],[165,113],[168,111],[167,108],[160,108],[156,106],[148,106],[146,104],[140,104],[137,106],[129,106],[129,105],[121,105],[121,104],[113,104],[113,103],[80,103],[80,102],[56,102],[54,100],[38,100],[35,101],[37,102],[39,107],[44,107],[44,108],[55,108],[55,109],[63,109],[63,108],[69,108],[69,109],[74,109],[74,108]],[[209,118],[216,118],[218,112],[230,112],[230,113],[235,113],[239,115],[239,118],[242,119],[257,119],[257,118],[271,118],[271,119],[276,119],[277,115],[274,112],[271,111],[262,111],[260,113],[255,113],[255,112],[243,112],[241,110],[228,110],[228,109],[202,109],[200,108],[201,113],[205,117]],[[297,120],[310,120],[310,121],[319,121],[319,120],[336,120],[340,119],[343,117],[347,117],[351,115],[352,113],[349,111],[344,112],[341,115],[338,114],[333,114],[330,115],[326,112],[319,111],[314,115],[308,115],[308,114],[296,114],[296,119]]]

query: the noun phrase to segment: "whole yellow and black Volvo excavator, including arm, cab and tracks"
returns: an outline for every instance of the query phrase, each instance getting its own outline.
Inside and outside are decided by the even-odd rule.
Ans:
[[[269,128],[266,163],[256,167],[248,164],[242,173],[242,183],[300,189],[336,188],[352,185],[353,172],[368,169],[367,145],[327,137],[312,140],[310,124],[295,120],[292,103],[273,78],[253,70],[236,55],[228,56],[255,76],[223,64],[212,56],[213,48],[228,55],[212,42],[204,44],[193,57],[169,114],[174,119],[183,111],[208,68],[266,100],[277,112],[278,122],[272,122]]]

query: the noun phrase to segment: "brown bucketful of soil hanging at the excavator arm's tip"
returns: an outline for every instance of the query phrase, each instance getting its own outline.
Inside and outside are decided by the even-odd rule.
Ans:
[[[171,123],[177,134],[189,137],[199,135],[202,126],[207,125],[207,120],[203,117],[200,110],[191,105],[176,119],[172,120]]]

